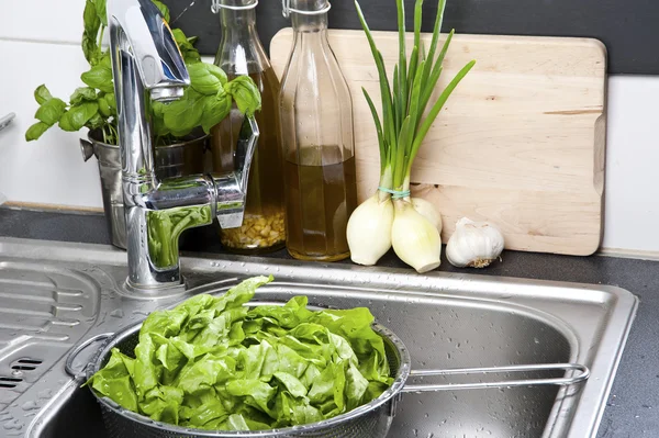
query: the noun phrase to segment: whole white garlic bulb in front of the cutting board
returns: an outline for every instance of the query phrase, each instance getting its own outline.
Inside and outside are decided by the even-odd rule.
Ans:
[[[446,258],[457,268],[485,268],[503,251],[503,235],[488,222],[462,217],[446,245]]]

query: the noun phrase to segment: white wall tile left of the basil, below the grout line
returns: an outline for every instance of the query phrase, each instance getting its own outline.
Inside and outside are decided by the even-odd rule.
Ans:
[[[16,113],[0,132],[0,192],[10,201],[102,206],[98,167],[96,160],[82,161],[79,133],[54,127],[38,142],[24,139],[34,123],[38,85],[46,82],[53,96],[64,99],[81,85],[87,61],[80,48],[0,40],[0,59],[20,59],[0,77],[0,114]]]

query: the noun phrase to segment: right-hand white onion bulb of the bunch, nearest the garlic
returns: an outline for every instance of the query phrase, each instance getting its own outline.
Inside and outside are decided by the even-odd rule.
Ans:
[[[434,224],[409,201],[395,201],[391,244],[396,256],[418,273],[436,269],[442,255],[442,238]]]

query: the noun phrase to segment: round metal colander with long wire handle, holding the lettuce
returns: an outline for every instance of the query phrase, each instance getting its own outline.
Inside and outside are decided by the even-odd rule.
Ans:
[[[134,350],[138,342],[142,323],[130,326],[118,334],[103,334],[88,339],[75,348],[66,363],[66,370],[71,375],[79,377],[72,369],[77,355],[94,341],[110,338],[94,356],[86,368],[87,379],[102,369],[110,359],[113,348],[118,348],[126,356],[134,357]],[[395,407],[402,394],[405,392],[434,392],[472,390],[484,388],[512,388],[529,385],[572,385],[585,381],[590,371],[588,367],[578,363],[538,363],[510,367],[492,368],[466,368],[450,370],[412,370],[411,358],[402,340],[387,327],[373,324],[373,330],[384,340],[384,348],[393,384],[378,398],[359,406],[346,414],[323,422],[312,423],[281,429],[269,429],[263,431],[214,431],[178,427],[175,425],[154,422],[139,414],[135,414],[119,406],[108,397],[101,397],[93,390],[94,397],[101,406],[103,422],[109,438],[230,438],[230,437],[277,437],[277,438],[384,438],[389,433],[391,423],[395,415]],[[410,377],[437,377],[437,375],[471,375],[487,373],[513,373],[513,372],[538,372],[538,371],[563,371],[569,377],[547,379],[522,379],[494,382],[468,382],[448,384],[410,384]],[[574,375],[574,371],[579,371]]]

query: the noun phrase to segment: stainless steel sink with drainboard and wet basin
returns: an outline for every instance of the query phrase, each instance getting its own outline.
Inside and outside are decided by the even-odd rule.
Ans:
[[[317,305],[368,306],[406,344],[416,369],[591,369],[576,388],[405,394],[390,437],[594,437],[637,305],[629,292],[602,285],[347,265],[213,256],[183,258],[183,270],[189,293],[272,273],[259,300],[306,294]],[[185,297],[127,299],[125,276],[125,254],[110,247],[0,239],[0,436],[104,437],[93,397],[64,371],[66,352]]]

